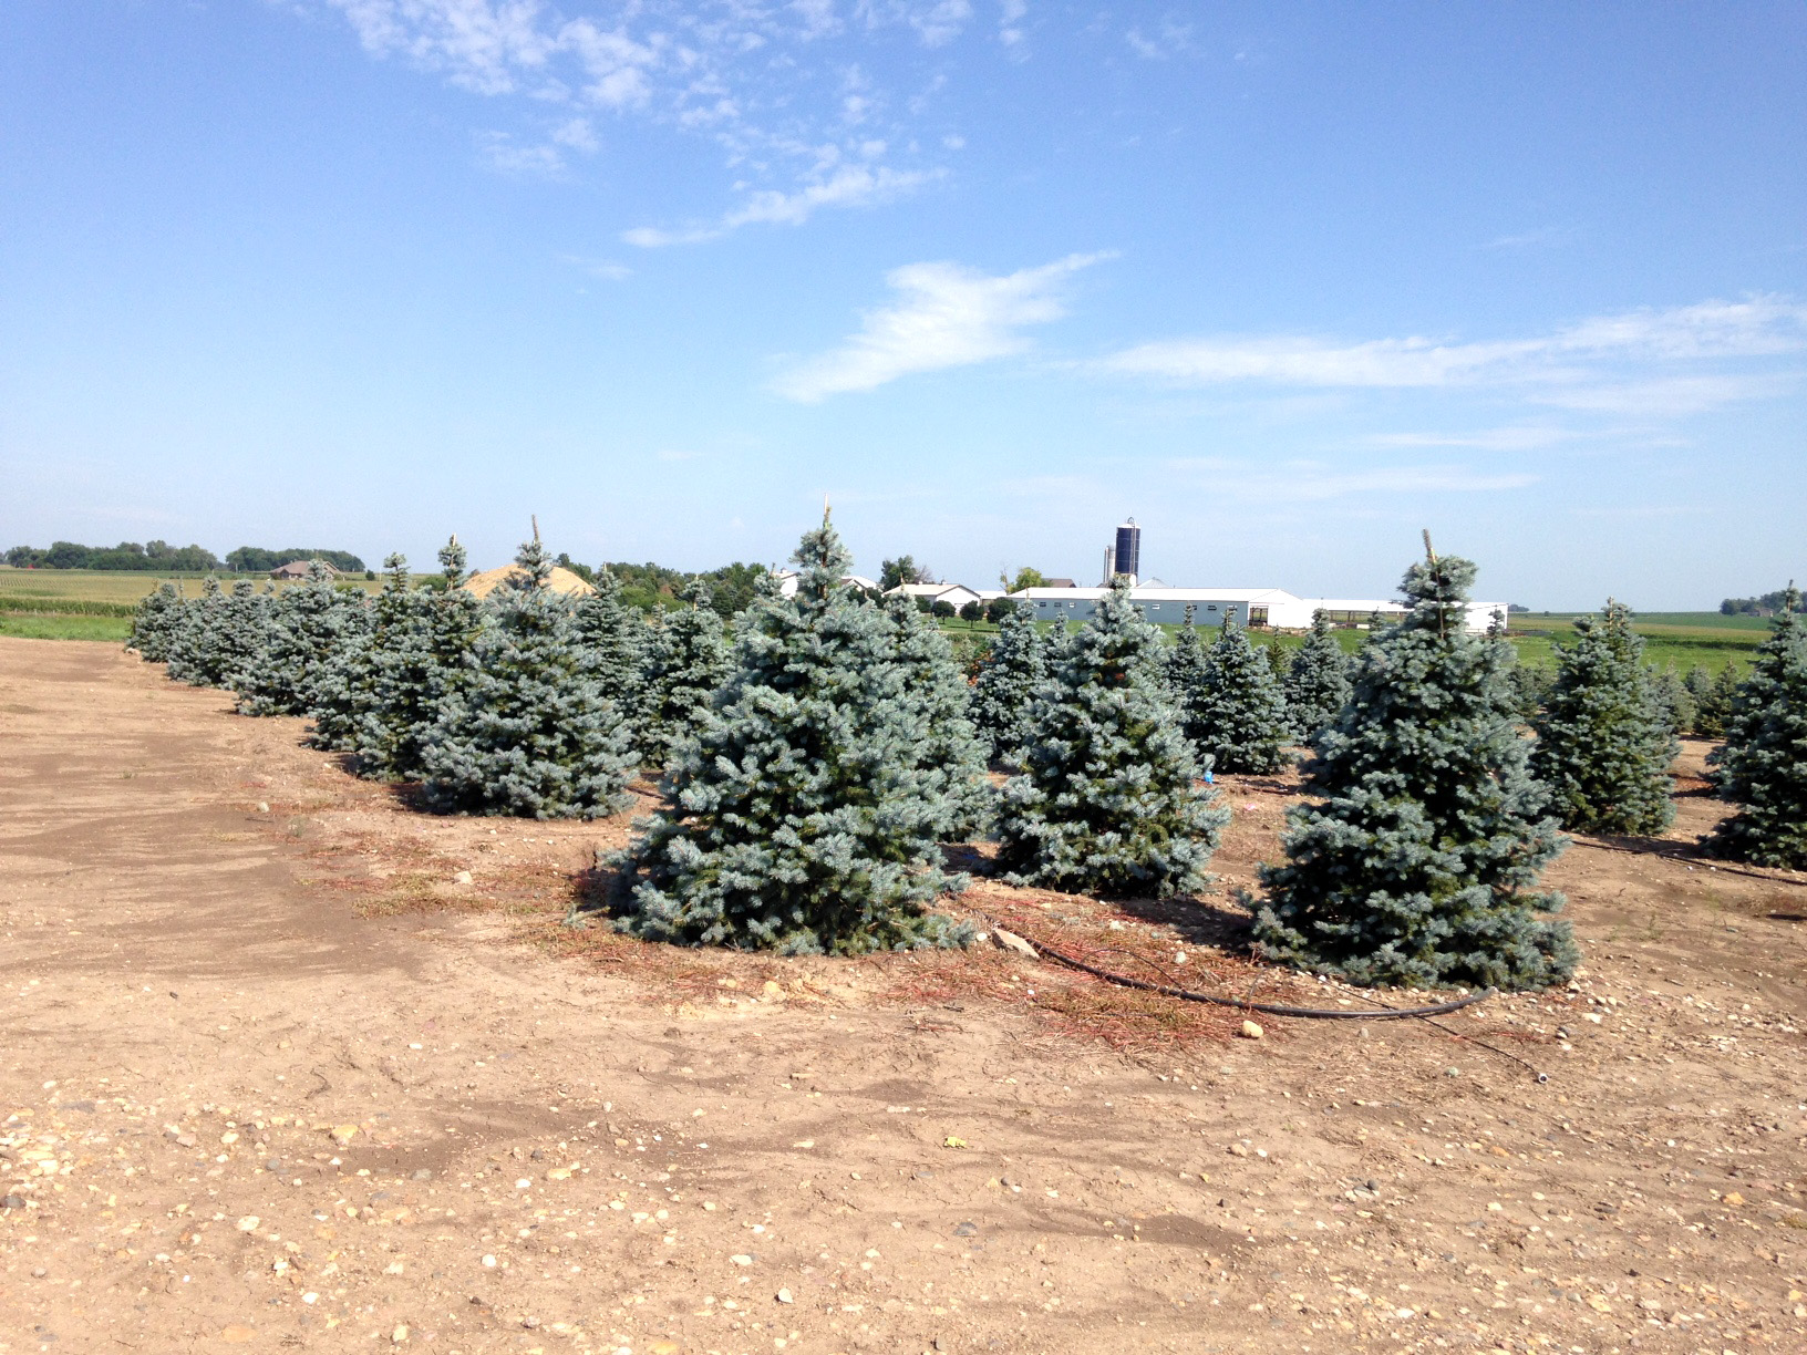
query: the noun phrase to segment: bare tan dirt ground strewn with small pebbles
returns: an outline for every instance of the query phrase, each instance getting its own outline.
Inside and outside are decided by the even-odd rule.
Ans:
[[[300,735],[0,640],[5,1355],[1807,1350],[1807,876],[1690,860],[1695,777],[1666,855],[1552,869],[1567,990],[1245,1039],[996,948],[573,932],[627,817],[432,818]],[[1223,793],[1196,905],[972,900],[1406,1005],[1240,958],[1288,782]]]

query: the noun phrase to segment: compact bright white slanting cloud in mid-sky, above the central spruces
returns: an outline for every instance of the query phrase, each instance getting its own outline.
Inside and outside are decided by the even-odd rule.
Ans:
[[[1066,314],[1061,284],[1109,255],[1068,255],[1053,264],[988,276],[961,264],[907,264],[885,282],[896,305],[871,311],[858,334],[773,383],[788,399],[815,403],[875,390],[911,372],[992,361],[1028,347],[1017,331]]]

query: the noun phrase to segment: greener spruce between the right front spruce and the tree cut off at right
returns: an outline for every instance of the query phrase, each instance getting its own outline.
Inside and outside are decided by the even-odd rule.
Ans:
[[[1556,647],[1556,685],[1536,723],[1531,771],[1563,827],[1661,833],[1675,818],[1670,764],[1681,752],[1644,668],[1632,611],[1612,598]]]

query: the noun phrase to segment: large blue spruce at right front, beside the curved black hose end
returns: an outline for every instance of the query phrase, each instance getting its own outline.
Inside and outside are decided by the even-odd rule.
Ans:
[[[1527,768],[1511,641],[1464,631],[1475,565],[1426,553],[1411,611],[1362,649],[1317,735],[1288,860],[1261,871],[1256,947],[1352,983],[1556,983],[1579,956],[1540,914],[1563,898],[1529,889],[1565,842]]]

